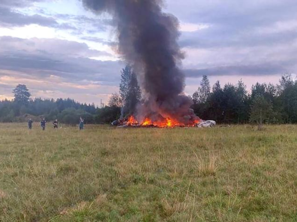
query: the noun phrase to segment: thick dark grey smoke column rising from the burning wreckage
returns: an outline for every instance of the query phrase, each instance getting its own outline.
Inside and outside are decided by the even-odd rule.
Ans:
[[[178,68],[183,53],[177,44],[179,22],[162,12],[161,0],[82,0],[95,13],[107,12],[117,26],[118,51],[138,74],[145,104],[138,116],[191,123],[198,117],[183,94],[185,76]]]

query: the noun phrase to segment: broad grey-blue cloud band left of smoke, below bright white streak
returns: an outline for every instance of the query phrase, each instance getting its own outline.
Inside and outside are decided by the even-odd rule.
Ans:
[[[1,43],[6,48],[2,48]],[[46,46],[42,48],[42,45]],[[19,71],[35,78],[56,75],[69,82],[88,80],[117,85],[123,64],[89,59],[94,51],[97,53],[86,44],[60,39],[1,37],[0,69]]]

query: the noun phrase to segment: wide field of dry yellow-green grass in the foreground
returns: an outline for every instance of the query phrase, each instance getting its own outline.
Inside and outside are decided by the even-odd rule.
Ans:
[[[297,221],[297,126],[0,124],[0,221]]]

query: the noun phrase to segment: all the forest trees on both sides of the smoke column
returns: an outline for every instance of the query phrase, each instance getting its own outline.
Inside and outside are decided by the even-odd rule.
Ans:
[[[100,108],[72,99],[31,99],[29,90],[21,84],[13,93],[14,100],[0,101],[0,122],[46,118],[76,124],[81,116],[86,123],[110,123],[133,114],[142,100],[136,74],[130,66],[121,71],[119,94],[112,94],[108,104]],[[257,82],[249,92],[242,80],[224,86],[217,81],[211,87],[208,77],[203,75],[197,91],[190,97],[192,108],[201,119],[228,124],[297,123],[297,81],[290,74],[283,75],[277,85]]]

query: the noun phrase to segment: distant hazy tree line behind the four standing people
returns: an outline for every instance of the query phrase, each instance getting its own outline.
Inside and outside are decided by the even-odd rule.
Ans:
[[[82,116],[87,123],[95,123],[98,107],[94,104],[82,104],[72,99],[31,99],[31,93],[23,84],[17,85],[13,93],[13,101],[0,101],[0,122],[46,118],[47,121],[59,119],[67,124],[77,124]]]

